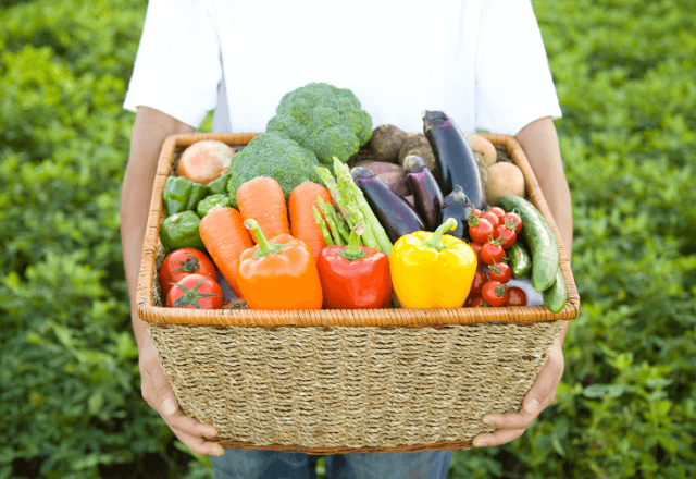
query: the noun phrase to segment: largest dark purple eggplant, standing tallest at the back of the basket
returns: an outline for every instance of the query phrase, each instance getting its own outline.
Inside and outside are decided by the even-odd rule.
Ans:
[[[425,110],[423,132],[435,155],[443,194],[449,195],[459,185],[475,208],[485,210],[486,195],[476,157],[461,130],[444,112]]]

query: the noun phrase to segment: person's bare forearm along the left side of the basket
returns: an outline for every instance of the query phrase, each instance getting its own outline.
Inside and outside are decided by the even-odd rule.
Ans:
[[[162,143],[169,135],[194,131],[194,127],[158,110],[140,107],[136,113],[130,136],[128,165],[121,189],[121,243],[130,299],[130,317],[138,351],[147,337],[147,329],[136,310],[136,292],[154,168]]]

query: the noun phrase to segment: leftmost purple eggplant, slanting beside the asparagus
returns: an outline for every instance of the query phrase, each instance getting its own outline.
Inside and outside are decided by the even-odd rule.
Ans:
[[[350,175],[364,194],[368,205],[391,243],[406,234],[425,230],[423,220],[411,204],[371,170],[356,167],[350,171]]]

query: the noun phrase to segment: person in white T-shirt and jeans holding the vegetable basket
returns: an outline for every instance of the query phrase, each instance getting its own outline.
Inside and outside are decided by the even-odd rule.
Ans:
[[[351,89],[373,125],[422,131],[442,110],[461,130],[514,135],[534,170],[569,257],[572,211],[554,120],[561,116],[530,0],[151,0],[124,108],[136,111],[121,196],[123,257],[142,396],[176,437],[211,455],[215,477],[313,477],[315,457],[224,450],[210,425],[184,416],[136,312],[153,169],[164,138],[192,133],[214,110],[215,132],[263,132],[282,96],[311,82]],[[519,438],[555,398],[568,326],[519,413],[489,415],[474,439]],[[223,456],[224,453],[224,456]],[[327,477],[446,477],[452,453],[347,454]]]

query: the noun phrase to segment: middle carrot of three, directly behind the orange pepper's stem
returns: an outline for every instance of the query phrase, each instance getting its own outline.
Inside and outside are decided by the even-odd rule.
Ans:
[[[256,220],[266,238],[290,234],[285,195],[275,179],[259,176],[239,185],[237,206],[243,220]]]

